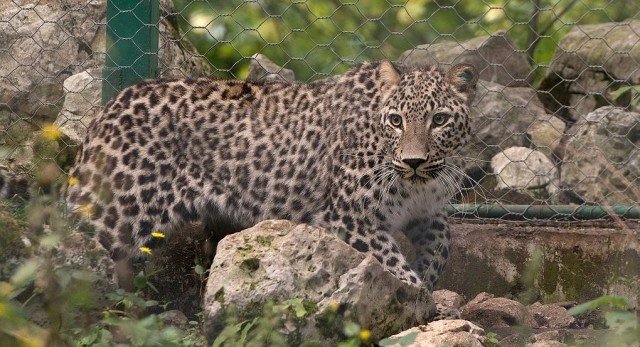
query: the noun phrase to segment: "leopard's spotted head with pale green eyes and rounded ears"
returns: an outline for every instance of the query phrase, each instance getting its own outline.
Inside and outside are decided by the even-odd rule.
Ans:
[[[465,64],[446,73],[414,70],[399,77],[380,115],[385,151],[400,177],[429,181],[471,137],[477,73]]]

